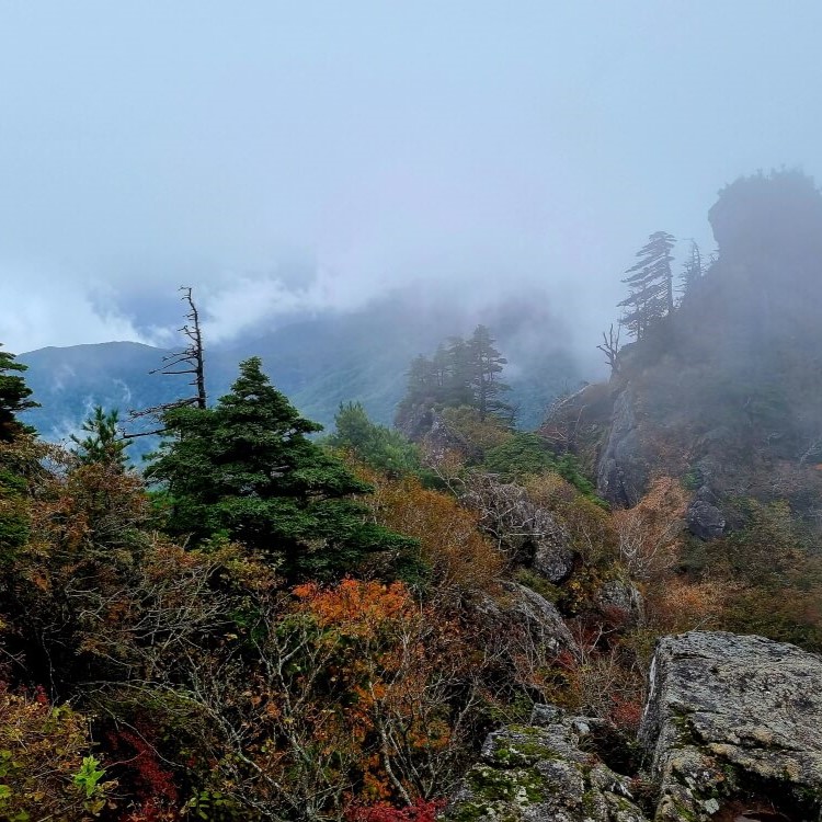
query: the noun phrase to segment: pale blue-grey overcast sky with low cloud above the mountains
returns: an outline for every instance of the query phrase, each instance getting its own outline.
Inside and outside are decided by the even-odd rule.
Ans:
[[[652,231],[822,176],[822,2],[0,0],[0,342],[229,343],[415,278],[579,344]],[[544,294],[544,293],[547,293]]]

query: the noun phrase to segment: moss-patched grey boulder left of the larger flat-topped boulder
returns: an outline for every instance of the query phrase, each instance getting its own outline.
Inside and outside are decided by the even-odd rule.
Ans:
[[[537,706],[528,726],[494,731],[445,809],[448,822],[644,822],[629,780],[582,745],[604,723]]]

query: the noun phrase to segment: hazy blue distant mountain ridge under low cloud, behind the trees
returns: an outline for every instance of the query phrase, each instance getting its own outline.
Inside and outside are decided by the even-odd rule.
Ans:
[[[466,318],[458,310],[436,311],[391,298],[366,309],[322,315],[285,326],[230,350],[206,352],[212,399],[225,393],[237,375],[237,364],[259,355],[274,385],[300,411],[324,425],[333,423],[341,402],[361,401],[372,418],[390,424],[406,387],[411,358],[431,353],[455,333],[468,333],[476,322],[488,322],[499,334],[499,347],[511,361],[507,381],[518,406],[518,424],[533,429],[557,393],[575,388],[580,375],[567,351],[551,351],[530,341],[548,327],[545,317],[510,306],[496,316]],[[527,340],[526,345],[523,341]],[[28,385],[41,409],[27,421],[48,439],[75,431],[94,404],[129,409],[168,402],[187,392],[185,377],[150,375],[167,351],[130,342],[48,347],[20,355],[28,365]],[[136,450],[145,450],[140,445]]]

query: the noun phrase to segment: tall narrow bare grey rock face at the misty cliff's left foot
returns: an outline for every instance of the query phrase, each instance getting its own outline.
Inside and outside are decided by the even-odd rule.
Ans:
[[[614,402],[610,431],[597,470],[598,492],[618,505],[636,505],[649,481],[635,404],[633,391],[626,387]]]

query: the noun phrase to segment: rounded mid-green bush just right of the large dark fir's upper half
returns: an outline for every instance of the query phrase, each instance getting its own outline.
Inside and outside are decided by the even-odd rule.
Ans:
[[[336,430],[326,439],[332,448],[351,450],[357,459],[390,476],[420,470],[416,446],[399,431],[373,423],[362,403],[341,404],[334,424]]]

